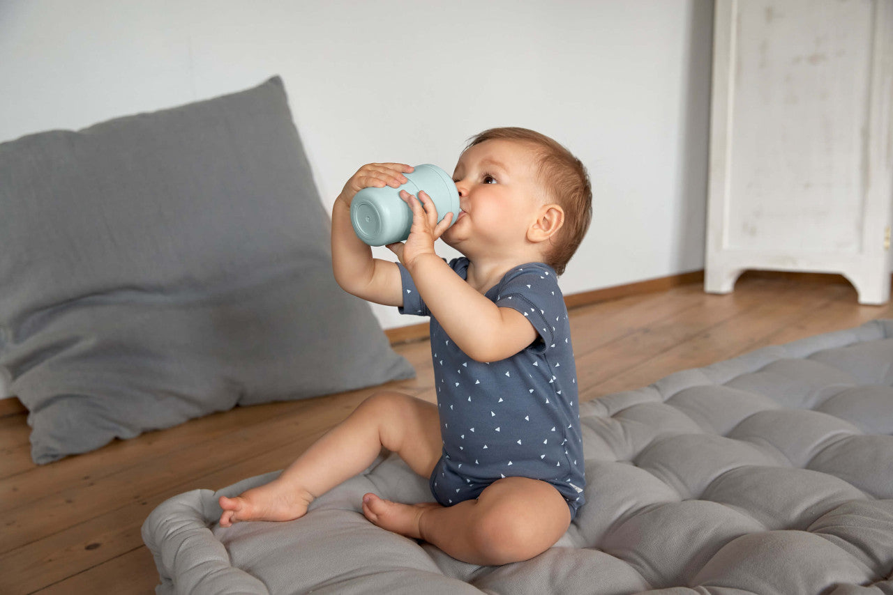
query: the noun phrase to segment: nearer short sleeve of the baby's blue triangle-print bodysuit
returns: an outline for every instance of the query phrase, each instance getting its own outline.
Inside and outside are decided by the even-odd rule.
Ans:
[[[530,320],[542,339],[540,351],[555,344],[556,329],[567,316],[557,277],[546,264],[531,263],[506,274],[498,287],[497,306],[518,310]]]

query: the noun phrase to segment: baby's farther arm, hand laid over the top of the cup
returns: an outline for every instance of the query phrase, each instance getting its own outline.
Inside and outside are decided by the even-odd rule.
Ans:
[[[332,271],[347,293],[369,302],[403,305],[399,269],[394,262],[372,258],[371,248],[356,236],[350,223],[350,203],[363,188],[404,184],[403,174],[412,171],[403,163],[370,163],[347,180],[338,194],[332,208]]]

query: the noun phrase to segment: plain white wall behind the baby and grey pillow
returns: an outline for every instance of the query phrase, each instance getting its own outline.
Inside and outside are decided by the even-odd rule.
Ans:
[[[330,206],[365,162],[451,170],[481,129],[535,128],[592,178],[577,293],[704,267],[712,21],[711,0],[0,0],[0,142],[280,74]]]

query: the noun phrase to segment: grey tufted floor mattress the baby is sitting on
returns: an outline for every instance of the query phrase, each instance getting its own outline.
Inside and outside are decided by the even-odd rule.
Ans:
[[[893,320],[667,376],[580,405],[586,505],[554,548],[457,562],[371,525],[364,492],[432,500],[382,458],[289,523],[223,529],[180,494],[143,538],[159,593],[893,595]]]

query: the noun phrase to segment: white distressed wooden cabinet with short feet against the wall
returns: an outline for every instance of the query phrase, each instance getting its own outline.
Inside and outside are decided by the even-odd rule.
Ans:
[[[890,290],[893,0],[717,0],[705,290],[745,269]]]

